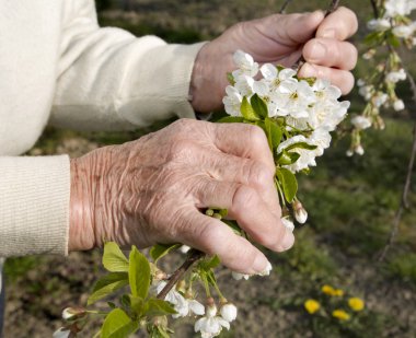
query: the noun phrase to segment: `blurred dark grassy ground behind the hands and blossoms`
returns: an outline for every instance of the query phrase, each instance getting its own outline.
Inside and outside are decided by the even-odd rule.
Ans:
[[[100,22],[136,35],[154,34],[171,43],[211,39],[228,26],[261,18],[281,8],[282,0],[101,0]],[[287,12],[325,9],[328,1],[293,0]],[[369,2],[342,1],[354,9],[360,30],[358,48],[371,16]],[[415,58],[406,56],[416,75]],[[357,79],[368,67],[360,60]],[[363,139],[366,154],[346,158],[347,139],[334,142],[317,167],[300,179],[300,199],[310,219],[296,230],[296,246],[288,253],[266,255],[275,269],[269,278],[234,281],[224,270],[220,283],[240,314],[222,337],[416,337],[416,203],[409,196],[398,235],[382,264],[377,255],[389,237],[406,176],[416,107],[407,83],[400,83],[407,109],[388,113],[386,128]],[[350,113],[363,102],[353,92]],[[81,133],[48,128],[30,154],[69,153],[79,156],[104,144],[123,143],[163,126],[132,132]],[[413,188],[415,185],[413,185]],[[172,263],[173,265],[173,263]],[[174,266],[172,266],[174,268]],[[68,258],[43,256],[9,259],[7,272],[5,338],[50,337],[61,326],[61,310],[84,305],[102,273],[101,252],[74,253]],[[343,290],[344,296],[324,294],[322,285]],[[347,305],[358,296],[366,307],[357,313]],[[305,311],[308,299],[321,303],[319,313]],[[350,320],[325,317],[325,308],[349,311]],[[174,337],[197,337],[190,322],[175,325]],[[92,337],[92,325],[81,337]]]

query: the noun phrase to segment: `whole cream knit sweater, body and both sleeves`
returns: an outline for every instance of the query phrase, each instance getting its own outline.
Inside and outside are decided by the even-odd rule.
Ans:
[[[100,28],[93,0],[0,0],[0,256],[68,250],[68,156],[16,155],[48,123],[120,130],[194,117],[200,47]]]

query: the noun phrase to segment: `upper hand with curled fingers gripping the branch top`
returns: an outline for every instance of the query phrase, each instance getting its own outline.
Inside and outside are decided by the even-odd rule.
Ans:
[[[199,51],[193,72],[193,106],[198,112],[221,106],[226,74],[235,68],[232,56],[236,49],[251,54],[259,63],[285,67],[291,67],[303,55],[307,63],[301,77],[328,79],[346,94],[354,85],[349,70],[357,62],[357,49],[345,39],[357,27],[354,12],[343,7],[325,19],[322,11],[316,11],[239,23]]]

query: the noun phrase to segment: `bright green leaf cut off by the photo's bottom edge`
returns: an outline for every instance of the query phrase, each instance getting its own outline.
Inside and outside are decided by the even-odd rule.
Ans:
[[[122,310],[113,310],[106,317],[101,329],[102,338],[126,338],[135,333],[139,327],[137,322]]]

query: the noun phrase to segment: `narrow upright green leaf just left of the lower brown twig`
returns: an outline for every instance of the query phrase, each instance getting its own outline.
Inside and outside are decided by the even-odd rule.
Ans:
[[[136,246],[130,252],[128,279],[132,295],[146,299],[150,287],[150,265]]]

